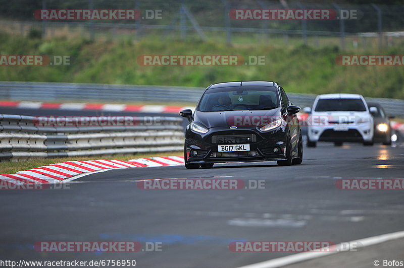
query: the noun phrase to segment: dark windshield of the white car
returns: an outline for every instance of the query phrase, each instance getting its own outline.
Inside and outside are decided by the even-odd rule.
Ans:
[[[316,112],[326,111],[356,111],[364,112],[366,107],[361,99],[320,99]]]

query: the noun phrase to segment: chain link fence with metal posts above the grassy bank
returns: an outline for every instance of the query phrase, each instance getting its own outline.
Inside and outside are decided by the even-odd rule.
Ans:
[[[5,2],[4,0],[0,1]],[[40,9],[136,9],[138,20],[40,21]],[[300,9],[355,11],[349,20],[235,20],[233,10]],[[2,29],[28,35],[40,31],[44,38],[84,36],[98,39],[204,40],[227,43],[338,45],[343,48],[389,47],[404,41],[404,5],[336,5],[287,1],[178,1],[33,0],[3,3]]]

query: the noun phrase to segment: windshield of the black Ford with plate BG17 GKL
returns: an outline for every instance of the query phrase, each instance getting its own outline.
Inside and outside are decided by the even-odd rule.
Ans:
[[[275,87],[240,86],[207,90],[197,110],[202,112],[270,110],[278,107]]]

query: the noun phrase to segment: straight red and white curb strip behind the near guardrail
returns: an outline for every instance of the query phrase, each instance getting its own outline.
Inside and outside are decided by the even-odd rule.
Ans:
[[[35,101],[0,101],[0,107],[21,109],[56,109],[56,110],[97,110],[109,112],[153,112],[178,113],[184,109],[194,109],[190,106],[166,105],[130,105],[130,104],[103,104],[103,103],[47,103]]]

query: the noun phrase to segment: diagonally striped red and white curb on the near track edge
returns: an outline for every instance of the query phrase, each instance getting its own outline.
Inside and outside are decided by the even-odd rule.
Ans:
[[[0,174],[0,183],[61,183],[72,181],[85,175],[112,169],[163,167],[183,164],[184,158],[180,156],[137,158],[129,161],[107,159],[69,161],[30,170],[18,171],[15,174]]]

